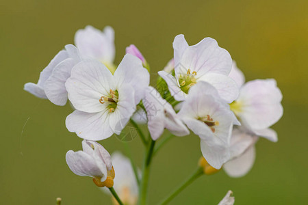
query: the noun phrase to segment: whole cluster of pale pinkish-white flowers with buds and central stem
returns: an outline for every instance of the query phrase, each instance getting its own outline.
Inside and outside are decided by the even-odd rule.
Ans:
[[[165,129],[172,136],[192,131],[200,138],[203,156],[195,176],[214,174],[222,167],[231,177],[244,176],[253,166],[259,137],[277,141],[270,126],[281,118],[283,107],[274,79],[245,83],[229,52],[213,38],[190,46],[178,35],[173,49],[174,57],[152,87],[150,66],[136,46],[128,46],[116,66],[114,30],[87,26],[75,34],[75,46],[66,45],[40,72],[38,83],[25,84],[27,92],[55,105],[70,101],[74,111],[66,127],[84,141],[83,151],[67,152],[68,167],[79,176],[92,177],[98,187],[109,188],[115,204],[144,204],[149,165],[160,148],[155,141]],[[119,152],[110,156],[97,142],[121,135],[129,122],[146,148],[142,172],[132,160]],[[149,137],[139,128],[144,123]],[[220,204],[233,204],[230,194]]]

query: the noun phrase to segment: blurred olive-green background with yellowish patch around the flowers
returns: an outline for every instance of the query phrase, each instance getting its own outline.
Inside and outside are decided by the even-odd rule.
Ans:
[[[65,154],[81,139],[66,130],[69,105],[57,107],[23,91],[42,68],[73,43],[77,29],[93,25],[116,31],[116,63],[136,44],[152,68],[152,80],[172,57],[172,40],[184,33],[190,44],[210,36],[227,49],[247,80],[277,79],[283,118],[274,125],[278,143],[257,143],[251,172],[229,178],[203,176],[170,204],[218,204],[231,189],[235,204],[307,202],[308,1],[0,1],[1,204],[111,204],[91,178],[75,176]],[[116,137],[101,141],[122,150]],[[129,143],[138,165],[140,139]],[[169,141],[153,160],[150,204],[190,175],[201,156],[196,136]]]

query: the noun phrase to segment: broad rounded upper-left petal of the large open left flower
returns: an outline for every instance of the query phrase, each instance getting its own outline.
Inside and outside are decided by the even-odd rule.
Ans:
[[[75,65],[66,81],[68,99],[73,106],[88,113],[105,109],[99,100],[109,96],[110,89],[116,90],[110,70],[96,60],[85,60]]]

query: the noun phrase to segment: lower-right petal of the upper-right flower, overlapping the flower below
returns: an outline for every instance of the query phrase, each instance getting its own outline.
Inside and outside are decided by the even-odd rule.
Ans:
[[[197,79],[198,82],[205,81],[213,85],[220,97],[226,102],[231,103],[239,96],[238,85],[231,79],[223,74],[218,73],[207,73]]]

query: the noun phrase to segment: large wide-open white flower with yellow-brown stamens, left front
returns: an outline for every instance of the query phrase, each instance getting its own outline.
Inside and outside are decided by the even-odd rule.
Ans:
[[[81,61],[66,81],[76,109],[66,118],[68,131],[95,141],[119,135],[148,85],[149,72],[133,55],[125,55],[114,74],[99,61]]]

